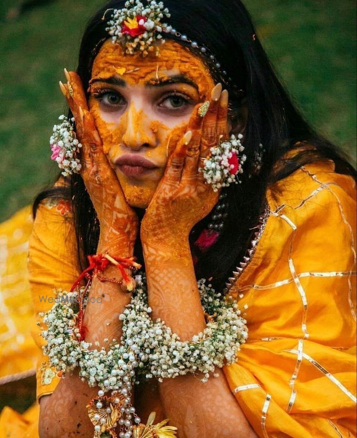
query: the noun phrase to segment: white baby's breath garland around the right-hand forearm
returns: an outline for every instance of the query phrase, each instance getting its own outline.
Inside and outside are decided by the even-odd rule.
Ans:
[[[182,342],[164,321],[150,318],[146,286],[140,275],[136,279],[137,290],[120,320],[123,322],[122,342],[145,352],[138,375],[146,379],[156,377],[162,382],[163,378],[201,372],[202,381],[206,382],[215,367],[235,362],[239,345],[247,337],[246,321],[241,318],[237,303],[229,299],[222,301],[221,294],[211,285],[206,286],[205,280],[199,280],[202,308],[209,320],[203,332],[191,341]]]

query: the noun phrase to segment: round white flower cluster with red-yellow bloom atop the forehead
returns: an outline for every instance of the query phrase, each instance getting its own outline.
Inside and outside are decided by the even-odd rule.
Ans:
[[[146,56],[154,50],[159,52],[155,43],[163,43],[161,33],[171,30],[170,26],[161,22],[164,16],[169,18],[170,14],[162,1],[158,3],[152,0],[144,6],[139,0],[130,0],[125,3],[125,8],[114,9],[106,30],[114,43],[119,40],[123,44],[126,53],[139,51]]]

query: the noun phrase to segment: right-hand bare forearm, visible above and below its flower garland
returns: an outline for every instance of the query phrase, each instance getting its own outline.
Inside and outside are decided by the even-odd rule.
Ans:
[[[168,248],[144,245],[148,300],[153,318],[161,318],[182,341],[205,329],[188,241]],[[179,437],[255,436],[221,370],[202,383],[202,375],[164,379],[160,395]]]

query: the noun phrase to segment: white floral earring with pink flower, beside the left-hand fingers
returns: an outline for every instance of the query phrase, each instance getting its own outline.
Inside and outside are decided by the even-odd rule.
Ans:
[[[78,157],[82,145],[77,140],[74,131],[74,118],[68,120],[62,115],[58,119],[62,123],[53,126],[53,134],[49,140],[52,151],[51,159],[56,161],[58,167],[63,170],[63,176],[79,173],[82,166]]]

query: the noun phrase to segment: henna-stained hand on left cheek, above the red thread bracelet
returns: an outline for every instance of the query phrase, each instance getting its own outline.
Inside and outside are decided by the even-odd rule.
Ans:
[[[65,70],[68,83],[60,83],[76,122],[81,148],[81,176],[100,223],[97,253],[128,257],[138,232],[136,213],[126,202],[119,181],[111,168],[98,134],[93,116],[88,110],[81,78]]]

